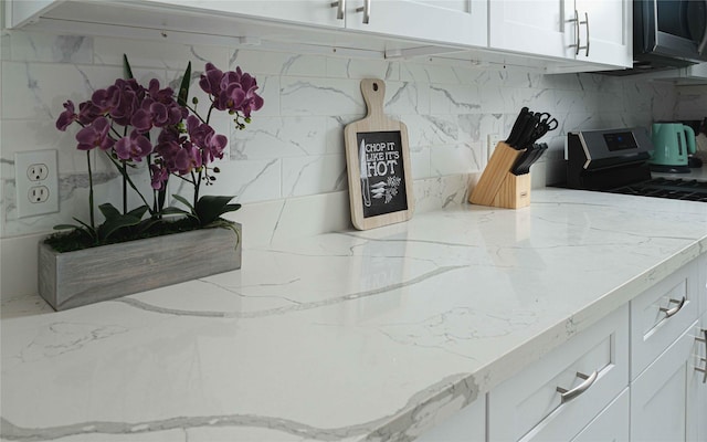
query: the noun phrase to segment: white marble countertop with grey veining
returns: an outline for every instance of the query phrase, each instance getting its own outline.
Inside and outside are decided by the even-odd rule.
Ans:
[[[1,436],[411,440],[706,251],[705,203],[548,188],[62,313],[13,299]]]

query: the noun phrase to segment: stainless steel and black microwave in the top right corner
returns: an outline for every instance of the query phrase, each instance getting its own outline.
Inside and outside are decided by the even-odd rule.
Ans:
[[[634,71],[707,62],[707,0],[634,0]]]

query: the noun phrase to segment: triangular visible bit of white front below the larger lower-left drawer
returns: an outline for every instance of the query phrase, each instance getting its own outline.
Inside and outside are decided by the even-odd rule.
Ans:
[[[626,388],[571,442],[629,441],[630,393]]]

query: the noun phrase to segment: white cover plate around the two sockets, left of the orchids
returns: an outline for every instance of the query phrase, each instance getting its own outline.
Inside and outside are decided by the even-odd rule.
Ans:
[[[45,165],[46,178],[30,180],[28,169],[32,165]],[[59,212],[59,170],[56,149],[32,150],[14,154],[14,186],[17,188],[18,218],[36,217]],[[49,198],[43,202],[32,202],[30,198],[33,187],[44,186],[49,189]]]

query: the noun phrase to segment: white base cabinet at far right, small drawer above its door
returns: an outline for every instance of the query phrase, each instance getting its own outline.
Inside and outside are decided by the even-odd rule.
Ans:
[[[631,439],[704,441],[705,257],[631,302]]]

